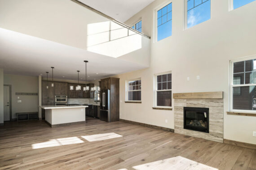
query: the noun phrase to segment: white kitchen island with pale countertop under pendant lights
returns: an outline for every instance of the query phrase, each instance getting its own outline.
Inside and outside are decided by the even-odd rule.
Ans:
[[[85,108],[88,106],[40,106],[45,110],[45,122],[50,127],[85,123]]]

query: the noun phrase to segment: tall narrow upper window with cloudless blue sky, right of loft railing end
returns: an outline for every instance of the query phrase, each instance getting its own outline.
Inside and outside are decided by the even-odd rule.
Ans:
[[[172,3],[157,11],[157,41],[172,35]]]

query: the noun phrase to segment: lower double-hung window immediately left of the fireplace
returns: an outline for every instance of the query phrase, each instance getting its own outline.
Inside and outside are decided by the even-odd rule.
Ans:
[[[155,75],[155,106],[172,106],[172,73]]]

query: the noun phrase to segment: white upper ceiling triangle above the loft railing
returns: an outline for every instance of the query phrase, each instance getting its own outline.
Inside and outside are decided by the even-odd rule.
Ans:
[[[154,0],[79,0],[121,22],[141,11]]]

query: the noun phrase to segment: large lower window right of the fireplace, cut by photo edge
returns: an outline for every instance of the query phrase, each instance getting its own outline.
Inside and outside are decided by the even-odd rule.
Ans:
[[[230,110],[256,110],[256,57],[231,62]]]

